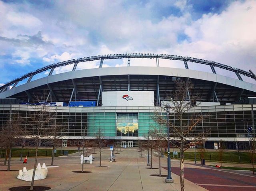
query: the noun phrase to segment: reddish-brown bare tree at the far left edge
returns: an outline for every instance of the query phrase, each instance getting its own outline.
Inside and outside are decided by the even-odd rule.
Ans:
[[[2,127],[1,130],[1,139],[5,142],[6,148],[8,148],[6,151],[6,159],[8,157],[8,167],[7,171],[10,171],[10,165],[11,165],[11,157],[12,157],[12,147],[15,146],[16,143],[20,141],[20,138],[23,135],[24,130],[22,129],[21,118],[18,114],[18,112],[10,111],[10,114],[8,114],[8,120],[6,121],[6,124]],[[7,156],[9,155],[9,156]],[[5,164],[6,164],[5,159]]]

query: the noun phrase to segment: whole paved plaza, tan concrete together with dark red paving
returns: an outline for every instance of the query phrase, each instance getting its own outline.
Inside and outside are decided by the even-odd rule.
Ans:
[[[81,171],[80,154],[70,154],[55,158],[53,167],[48,168],[48,176],[44,180],[35,181],[36,186],[48,186],[53,191],[178,191],[180,190],[179,160],[172,160],[172,178],[174,184],[164,183],[166,177],[150,176],[158,174],[158,158],[153,157],[153,167],[148,169],[146,152],[145,158],[136,148],[122,149],[116,155],[116,162],[109,162],[109,150],[102,152],[102,165],[98,167],[99,152],[93,154],[94,162],[84,164],[84,171],[91,173],[73,173]],[[162,158],[162,174],[166,175],[166,157]],[[51,158],[38,158],[38,162],[50,164]],[[28,158],[27,164],[22,164],[18,158],[12,159],[12,170],[26,166],[32,169],[34,158]],[[7,169],[0,161],[0,170]],[[30,182],[17,179],[18,171],[0,171],[0,190],[7,191],[10,187],[28,186]],[[185,163],[185,190],[187,191],[224,191],[224,190],[254,190],[256,177],[250,172],[240,175],[236,172],[218,171],[200,165],[193,161]],[[226,180],[228,179],[228,181]],[[236,180],[237,179],[237,180]],[[242,181],[240,181],[242,180]]]

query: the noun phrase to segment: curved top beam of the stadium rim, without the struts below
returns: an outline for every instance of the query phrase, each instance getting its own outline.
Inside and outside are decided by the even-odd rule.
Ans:
[[[31,75],[36,75],[36,74],[46,71],[48,69],[52,69],[53,67],[61,67],[61,66],[65,66],[65,65],[69,65],[69,64],[73,64],[73,63],[80,63],[80,62],[94,61],[94,60],[101,60],[100,67],[102,67],[104,59],[123,59],[123,58],[128,58],[128,57],[130,57],[130,58],[149,58],[149,59],[161,58],[161,59],[180,60],[180,61],[183,61],[184,59],[186,59],[187,62],[190,61],[190,62],[205,64],[205,65],[210,65],[212,70],[213,70],[213,67],[219,67],[219,68],[226,69],[226,70],[232,71],[234,73],[237,72],[239,74],[242,74],[242,75],[245,75],[245,76],[255,79],[254,76],[252,75],[252,73],[250,73],[250,72],[244,71],[242,69],[234,68],[234,67],[231,67],[228,65],[224,65],[224,64],[221,64],[218,62],[214,62],[214,61],[208,61],[208,60],[204,60],[204,59],[197,59],[197,58],[193,58],[193,57],[184,57],[184,56],[178,56],[178,55],[151,54],[151,53],[147,53],[147,54],[140,54],[140,53],[128,54],[128,53],[126,53],[126,54],[90,56],[90,57],[84,57],[84,58],[79,58],[79,59],[63,61],[63,62],[59,62],[56,64],[51,64],[46,67],[42,67],[40,69],[37,69],[30,73],[27,73],[25,75],[22,75],[21,77],[18,77],[16,79],[6,83],[2,87],[0,87],[0,89],[4,89],[4,87],[12,85],[12,84],[16,83],[17,81],[22,81],[23,79],[26,79],[26,78],[30,77]]]

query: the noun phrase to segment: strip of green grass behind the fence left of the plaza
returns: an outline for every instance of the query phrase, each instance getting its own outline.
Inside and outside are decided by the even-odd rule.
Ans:
[[[62,153],[61,153],[61,150],[57,150],[57,156],[62,156],[64,150],[65,149],[62,150]],[[76,150],[65,150],[65,151],[68,151],[68,154],[77,152]],[[0,149],[0,152],[1,152],[1,149]],[[20,157],[21,152],[22,152],[22,157],[26,157],[26,156],[35,157],[36,156],[36,149],[24,148],[22,150],[21,148],[13,148],[12,149],[12,157]],[[5,156],[5,150],[2,149],[2,158],[4,158],[4,156]],[[38,156],[39,157],[52,156],[52,149],[38,149]],[[54,156],[56,156],[56,155],[54,154]]]

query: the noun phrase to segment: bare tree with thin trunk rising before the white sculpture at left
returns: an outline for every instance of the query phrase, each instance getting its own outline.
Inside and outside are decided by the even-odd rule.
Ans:
[[[30,111],[30,115],[25,120],[27,124],[25,132],[26,136],[28,136],[30,140],[34,141],[34,145],[36,147],[36,158],[34,162],[34,170],[30,190],[33,190],[34,187],[34,177],[36,173],[38,146],[40,144],[40,140],[47,139],[48,135],[51,135],[52,131],[56,130],[55,128],[52,128],[52,126],[55,126],[55,109],[52,109],[52,107],[46,105],[35,105],[32,106],[32,109],[33,110]]]

